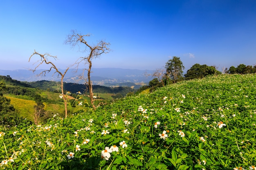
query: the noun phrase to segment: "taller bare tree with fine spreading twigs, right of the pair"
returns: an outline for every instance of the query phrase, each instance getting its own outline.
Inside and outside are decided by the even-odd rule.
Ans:
[[[109,53],[110,51],[110,44],[105,42],[104,40],[99,40],[97,44],[89,44],[85,38],[90,37],[90,34],[83,35],[81,33],[78,33],[75,30],[72,30],[72,33],[70,35],[67,35],[65,44],[70,44],[72,48],[75,46],[79,46],[83,44],[85,45],[85,48],[81,52],[87,53],[84,57],[79,57],[78,60],[75,62],[76,69],[79,68],[79,65],[81,63],[88,64],[88,68],[83,69],[83,73],[81,74],[80,78],[85,80],[85,84],[88,84],[89,86],[89,93],[90,93],[90,101],[93,108],[96,108],[94,105],[94,97],[92,92],[92,81],[90,74],[92,73],[92,60],[99,58],[101,54],[103,53]],[[84,73],[87,71],[87,78],[85,78]]]

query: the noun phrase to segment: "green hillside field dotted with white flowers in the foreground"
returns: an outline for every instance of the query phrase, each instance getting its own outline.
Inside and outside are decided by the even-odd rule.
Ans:
[[[0,129],[0,169],[256,170],[256,74],[179,82],[84,109]]]

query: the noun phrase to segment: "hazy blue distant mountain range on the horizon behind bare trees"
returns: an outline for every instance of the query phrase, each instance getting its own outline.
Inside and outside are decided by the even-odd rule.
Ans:
[[[37,76],[42,70],[36,70],[35,73],[29,70],[0,70],[0,75],[9,75],[12,79],[25,82],[35,82],[39,80],[49,80],[49,81],[61,81],[61,77],[58,74],[54,74],[54,71],[47,73],[45,76]],[[65,70],[61,70],[62,73]],[[101,86],[122,86],[124,84],[137,84],[144,85],[150,82],[153,77],[146,77],[145,73],[153,73],[152,70],[137,70],[137,69],[123,69],[123,68],[92,68],[91,80],[94,85]],[[79,75],[81,75],[82,69],[76,70],[70,69],[67,71],[64,82],[67,83],[81,83],[84,81],[79,80]],[[87,73],[85,74],[87,75]],[[87,77],[86,77],[87,78]]]

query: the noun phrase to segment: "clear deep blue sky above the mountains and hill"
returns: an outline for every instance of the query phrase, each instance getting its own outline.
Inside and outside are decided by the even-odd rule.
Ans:
[[[185,73],[196,63],[256,64],[255,0],[1,0],[0,69],[34,68],[34,50],[70,66],[85,55],[64,44],[72,29],[110,42],[94,68],[155,70],[173,56]]]

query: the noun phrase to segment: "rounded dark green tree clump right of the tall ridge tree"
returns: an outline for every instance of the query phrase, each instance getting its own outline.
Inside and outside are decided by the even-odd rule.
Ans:
[[[213,66],[207,66],[206,64],[194,64],[184,75],[186,79],[198,79],[206,77],[207,75],[219,75],[220,71],[217,71]]]

